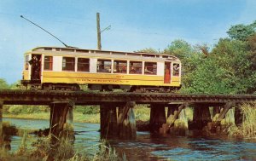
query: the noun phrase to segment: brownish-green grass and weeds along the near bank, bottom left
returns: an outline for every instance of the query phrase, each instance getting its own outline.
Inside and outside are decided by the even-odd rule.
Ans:
[[[98,151],[90,156],[86,152],[86,149],[80,148],[75,150],[73,147],[73,141],[70,140],[70,137],[61,137],[58,140],[58,146],[54,149],[50,146],[50,136],[38,138],[37,141],[32,142],[31,147],[27,147],[27,135],[24,133],[20,147],[16,152],[9,152],[4,147],[0,147],[0,160],[9,161],[9,160],[54,160],[62,161],[117,161],[117,160],[126,160],[124,157],[119,158],[115,150],[108,146],[106,141],[101,141],[98,145],[94,147],[99,147]]]

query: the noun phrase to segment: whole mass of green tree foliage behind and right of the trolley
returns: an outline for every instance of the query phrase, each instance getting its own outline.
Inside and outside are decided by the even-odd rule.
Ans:
[[[178,39],[161,52],[175,55],[182,61],[181,92],[241,94],[255,91],[256,34],[247,41],[220,38],[212,51],[208,50],[205,44],[191,46]]]

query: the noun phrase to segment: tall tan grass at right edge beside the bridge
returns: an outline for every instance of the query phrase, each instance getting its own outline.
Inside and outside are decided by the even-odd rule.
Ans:
[[[229,135],[247,139],[256,139],[256,103],[241,106],[243,122],[241,125],[232,125]]]

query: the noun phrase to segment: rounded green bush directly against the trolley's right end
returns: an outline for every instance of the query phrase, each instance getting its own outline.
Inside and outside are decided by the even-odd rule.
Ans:
[[[185,93],[195,94],[232,94],[234,93],[230,86],[234,80],[232,73],[223,67],[214,66],[216,60],[204,60],[194,72],[186,75],[187,81],[184,81]],[[234,82],[233,82],[234,83]]]

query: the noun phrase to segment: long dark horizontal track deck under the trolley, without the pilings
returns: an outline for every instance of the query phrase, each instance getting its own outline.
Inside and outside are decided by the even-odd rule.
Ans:
[[[72,101],[76,105],[100,105],[102,103],[137,104],[152,103],[207,103],[224,104],[256,102],[256,95],[184,95],[173,93],[130,93],[97,91],[46,91],[46,90],[0,90],[0,101],[10,105],[49,105],[51,102]]]

